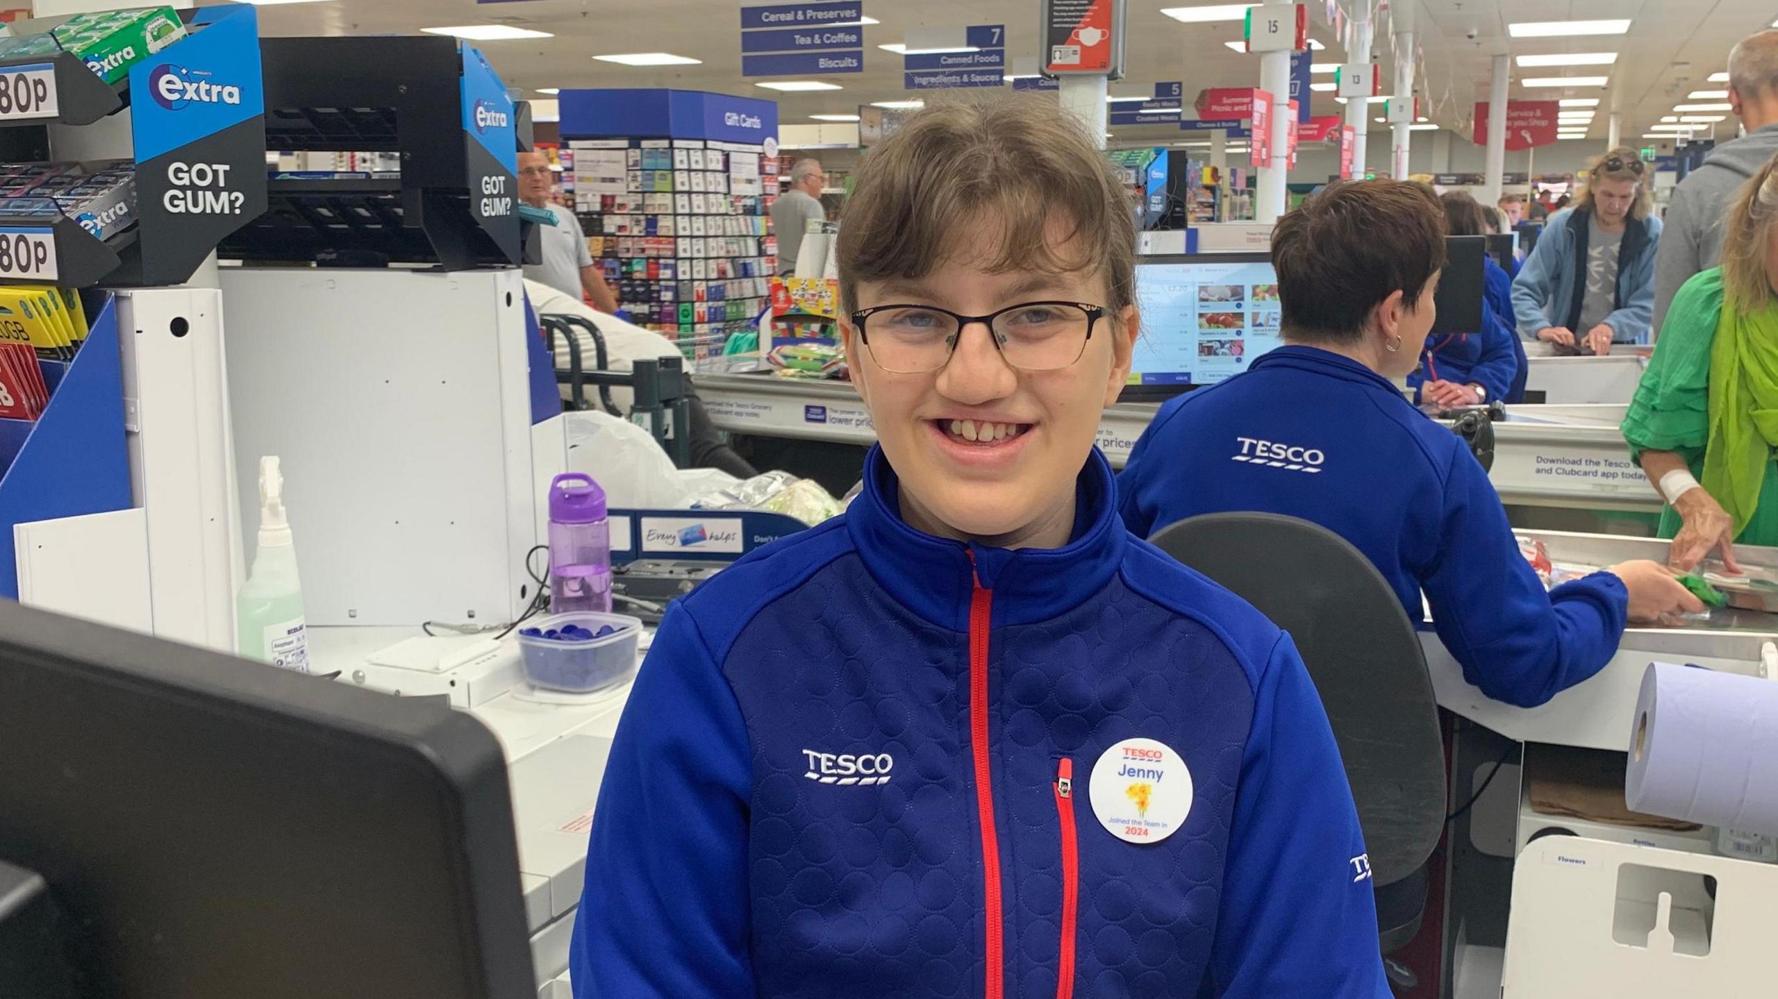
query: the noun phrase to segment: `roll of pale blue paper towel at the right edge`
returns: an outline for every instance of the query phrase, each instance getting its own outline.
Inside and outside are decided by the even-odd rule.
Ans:
[[[1778,681],[1650,663],[1623,796],[1638,812],[1778,835]]]

